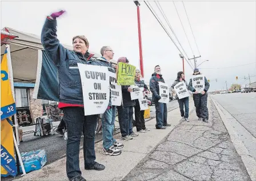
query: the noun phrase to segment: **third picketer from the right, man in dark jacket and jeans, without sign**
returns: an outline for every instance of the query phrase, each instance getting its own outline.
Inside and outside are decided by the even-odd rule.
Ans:
[[[159,102],[161,96],[159,96],[159,82],[165,83],[161,74],[161,68],[159,65],[155,66],[155,72],[152,74],[150,79],[150,91],[152,92],[152,99],[155,102],[155,113],[157,124],[155,128],[157,129],[166,129],[166,126],[171,126],[167,124],[167,106],[166,103]]]

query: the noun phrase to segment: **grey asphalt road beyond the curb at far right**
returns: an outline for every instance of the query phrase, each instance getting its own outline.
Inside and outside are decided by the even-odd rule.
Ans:
[[[227,117],[228,124],[256,160],[256,93],[216,94],[212,97],[231,114]]]

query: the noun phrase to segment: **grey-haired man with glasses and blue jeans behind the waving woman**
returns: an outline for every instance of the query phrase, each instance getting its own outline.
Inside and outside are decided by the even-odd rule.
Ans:
[[[101,48],[101,55],[93,61],[88,63],[91,65],[100,65],[108,67],[110,72],[115,73],[115,69],[111,67],[110,60],[113,59],[114,52],[109,46]],[[105,155],[119,155],[122,153],[122,143],[115,141],[113,137],[114,123],[115,123],[116,106],[111,105],[111,91],[109,97],[109,106],[107,110],[102,114],[102,138],[103,138],[103,154]]]

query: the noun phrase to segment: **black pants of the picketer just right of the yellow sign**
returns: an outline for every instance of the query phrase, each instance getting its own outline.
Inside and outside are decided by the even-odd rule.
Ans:
[[[137,131],[146,129],[145,120],[144,120],[145,110],[141,110],[141,107],[139,106],[139,102],[137,101],[134,107],[134,112],[135,112],[135,126]]]

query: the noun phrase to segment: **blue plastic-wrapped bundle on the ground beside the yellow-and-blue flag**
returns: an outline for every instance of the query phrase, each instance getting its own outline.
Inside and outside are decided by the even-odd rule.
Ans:
[[[21,153],[21,158],[26,172],[39,170],[45,166],[45,163],[47,162],[45,150]],[[19,166],[19,170],[22,172],[21,166]]]

